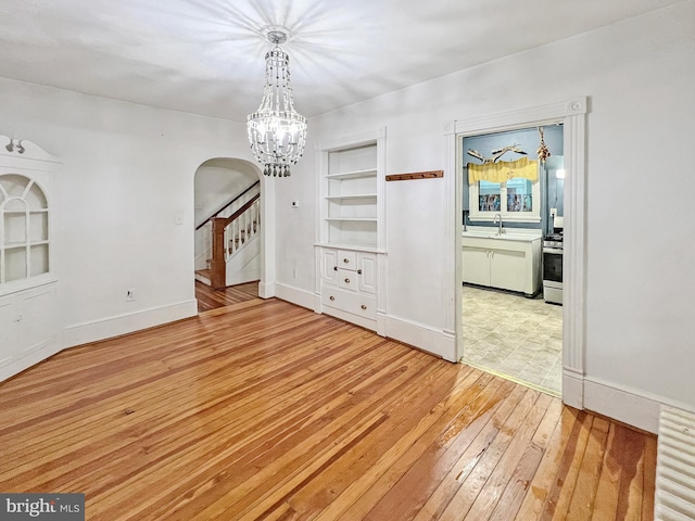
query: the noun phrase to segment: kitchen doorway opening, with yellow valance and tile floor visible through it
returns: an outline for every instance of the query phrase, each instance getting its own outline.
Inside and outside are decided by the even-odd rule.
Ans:
[[[543,291],[543,245],[564,228],[561,122],[459,140],[463,361],[561,396],[561,279]]]

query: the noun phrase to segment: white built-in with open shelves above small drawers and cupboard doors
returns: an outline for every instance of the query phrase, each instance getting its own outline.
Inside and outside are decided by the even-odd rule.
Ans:
[[[316,310],[383,334],[386,129],[319,145]]]

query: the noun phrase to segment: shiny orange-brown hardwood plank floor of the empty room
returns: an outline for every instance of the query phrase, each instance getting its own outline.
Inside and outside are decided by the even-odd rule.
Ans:
[[[250,300],[0,384],[0,491],[88,520],[652,520],[656,439]]]

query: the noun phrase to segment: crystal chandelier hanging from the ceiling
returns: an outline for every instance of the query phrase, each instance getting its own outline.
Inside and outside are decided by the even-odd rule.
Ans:
[[[275,48],[265,55],[265,88],[256,112],[247,116],[249,142],[266,176],[287,177],[306,143],[306,118],[294,110],[290,86],[290,56],[280,49],[287,41],[282,30],[270,30]]]

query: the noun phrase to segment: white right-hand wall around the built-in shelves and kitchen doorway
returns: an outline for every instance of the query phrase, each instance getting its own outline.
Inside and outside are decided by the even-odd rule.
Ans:
[[[683,161],[695,136],[694,35],[691,0],[325,114],[309,132],[386,125],[387,174],[444,169],[446,123],[587,96],[585,405],[619,416],[616,396],[630,396],[695,409],[695,175]],[[289,206],[316,199],[313,155],[277,198],[278,256],[290,259],[278,281],[301,291],[313,279],[292,279],[292,263],[309,269],[313,249],[289,239],[313,236],[314,208]],[[387,183],[387,312],[435,330],[452,283],[446,199],[441,179]]]

